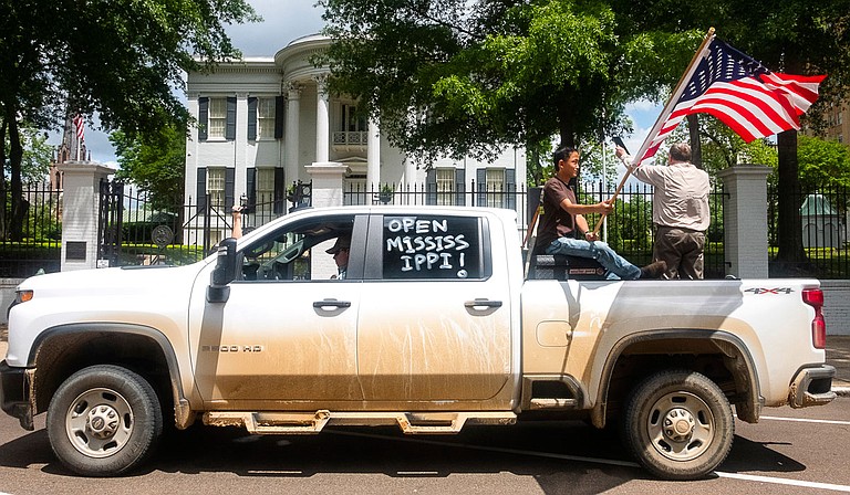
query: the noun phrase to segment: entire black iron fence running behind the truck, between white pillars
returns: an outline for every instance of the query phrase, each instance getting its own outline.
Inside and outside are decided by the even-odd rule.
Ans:
[[[301,185],[298,197],[256,198],[243,215],[246,231],[274,220],[292,208],[310,204],[310,185]],[[601,182],[583,183],[580,201],[608,199],[612,188]],[[154,208],[148,194],[127,186],[104,191],[113,194],[112,206],[101,211],[101,251],[110,265],[187,264],[200,260],[221,240],[232,234],[230,209],[210,201],[198,211],[189,201],[172,208]],[[345,204],[454,204],[506,208],[517,211],[519,233],[525,233],[539,194],[517,188],[479,189],[475,182],[466,190],[437,190],[428,186],[384,185],[374,190],[352,185],[344,191]],[[24,215],[20,232],[11,229],[11,208],[7,203],[0,222],[0,277],[27,277],[39,271],[58,272],[61,260],[62,191],[46,185],[30,185],[23,191]],[[712,223],[706,245],[706,277],[725,273],[723,207],[724,192],[711,194]],[[850,194],[847,188],[799,191],[794,197],[799,208],[804,260],[797,273],[819,278],[850,277]],[[777,197],[768,191],[768,242],[770,260],[777,254]],[[595,218],[589,219],[595,224]],[[621,191],[614,212],[602,228],[609,244],[635,264],[651,260],[653,243],[652,188],[633,183]]]

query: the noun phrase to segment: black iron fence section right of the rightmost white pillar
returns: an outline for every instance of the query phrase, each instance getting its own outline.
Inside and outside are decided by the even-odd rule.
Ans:
[[[779,198],[774,185],[768,186],[767,222],[771,276],[813,276],[818,278],[850,278],[850,190],[827,187],[791,193],[795,212],[799,215],[802,253],[791,253],[781,263],[779,254]],[[795,219],[796,220],[796,219]],[[795,257],[797,257],[795,260]],[[776,264],[777,266],[773,266]]]

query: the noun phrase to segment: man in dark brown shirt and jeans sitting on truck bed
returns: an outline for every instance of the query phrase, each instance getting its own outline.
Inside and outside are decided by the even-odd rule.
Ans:
[[[597,239],[590,230],[583,213],[611,213],[610,201],[595,204],[579,204],[576,193],[569,187],[571,179],[579,175],[579,150],[561,146],[554,151],[554,177],[546,181],[542,196],[542,211],[537,234],[539,252],[568,256],[591,257],[608,273],[609,280],[657,278],[666,271],[666,263],[659,261],[638,267],[616,254],[607,243]],[[576,239],[576,230],[584,239]]]

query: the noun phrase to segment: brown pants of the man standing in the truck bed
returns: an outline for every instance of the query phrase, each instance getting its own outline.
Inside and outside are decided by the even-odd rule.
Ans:
[[[678,227],[655,227],[654,261],[667,263],[664,278],[702,280],[705,232]]]

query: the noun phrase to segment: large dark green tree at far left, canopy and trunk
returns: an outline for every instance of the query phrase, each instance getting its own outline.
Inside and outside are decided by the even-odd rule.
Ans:
[[[187,71],[239,56],[226,23],[258,20],[246,0],[0,0],[0,134],[9,138],[11,231],[22,212],[21,122],[56,127],[100,114],[128,135],[185,126],[174,88]]]

